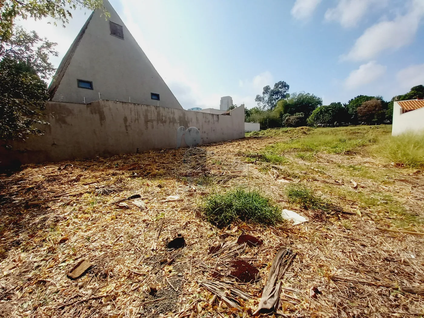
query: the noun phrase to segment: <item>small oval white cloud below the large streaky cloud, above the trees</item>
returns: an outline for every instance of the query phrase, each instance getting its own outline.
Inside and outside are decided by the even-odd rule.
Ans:
[[[347,89],[355,89],[359,86],[369,84],[384,75],[386,68],[384,65],[377,64],[376,61],[363,64],[349,74],[344,85]]]

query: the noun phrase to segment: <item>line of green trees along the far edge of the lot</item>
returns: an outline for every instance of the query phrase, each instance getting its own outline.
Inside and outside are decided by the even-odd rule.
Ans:
[[[323,105],[322,98],[306,92],[289,94],[289,88],[285,81],[277,82],[273,89],[265,86],[262,95],[255,98],[258,106],[245,109],[245,121],[260,123],[264,129],[391,123],[395,100],[424,97],[424,86],[418,85],[390,101],[385,101],[382,96],[359,95],[348,103]]]

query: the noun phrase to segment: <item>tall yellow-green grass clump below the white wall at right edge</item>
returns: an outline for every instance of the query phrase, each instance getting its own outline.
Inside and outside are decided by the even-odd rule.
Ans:
[[[424,133],[381,137],[370,150],[375,156],[399,167],[424,167]]]

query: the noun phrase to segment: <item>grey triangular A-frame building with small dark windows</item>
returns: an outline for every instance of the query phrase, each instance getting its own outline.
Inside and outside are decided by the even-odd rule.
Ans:
[[[50,100],[90,103],[107,99],[182,109],[107,0],[94,11],[62,59]]]

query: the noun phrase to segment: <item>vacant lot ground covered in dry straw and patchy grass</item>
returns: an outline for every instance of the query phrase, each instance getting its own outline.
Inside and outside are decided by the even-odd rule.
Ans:
[[[424,232],[424,142],[392,138],[390,131],[268,130],[199,148],[30,165],[4,174],[0,316],[249,317],[284,247],[297,256],[282,279],[277,316],[419,317],[424,236],[396,231]],[[240,187],[309,221],[209,223],[207,198]],[[122,201],[131,195],[139,195],[141,208]],[[214,204],[225,201],[217,198]],[[186,246],[167,249],[176,234]],[[263,244],[208,254],[210,246],[240,234]],[[71,280],[67,273],[82,259],[92,267]],[[259,270],[260,280],[232,277],[240,259]],[[226,282],[250,300],[235,297],[241,311],[229,308],[201,286],[204,281]]]

